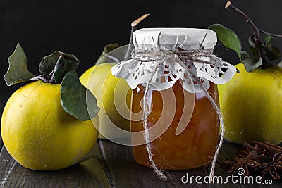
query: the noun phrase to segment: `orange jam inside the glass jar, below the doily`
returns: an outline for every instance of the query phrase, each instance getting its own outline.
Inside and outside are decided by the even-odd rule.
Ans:
[[[214,96],[214,101],[218,104],[216,84],[209,83],[208,92]],[[212,161],[219,140],[219,120],[216,117],[216,111],[204,91],[190,93],[183,89],[179,80],[170,89],[173,89],[174,94],[166,94],[168,89],[160,92],[149,89],[147,92],[148,106],[152,106],[147,116],[148,129],[157,123],[161,113],[164,114],[164,120],[161,121],[163,124],[171,122],[172,118],[172,122],[164,134],[151,142],[154,163],[157,168],[173,170],[205,165]],[[141,84],[133,90],[132,113],[142,111],[144,94],[145,87]],[[194,99],[194,101],[190,100],[190,103],[194,102],[194,108],[185,130],[176,135],[176,127],[180,123],[181,116],[190,113],[183,111],[185,97]],[[171,111],[171,108],[163,108],[164,103],[167,106],[175,105],[173,103],[169,104],[173,100],[176,100],[175,112]],[[190,104],[186,103],[185,105],[189,106]],[[191,111],[191,109],[188,109],[188,111]],[[171,115],[173,116],[171,117]],[[131,131],[144,131],[143,121],[131,121]],[[149,134],[154,134],[154,132],[149,132]],[[136,139],[141,139],[141,137],[135,138],[132,135],[131,139],[135,143],[140,142],[140,140],[137,141]],[[145,143],[145,138],[143,137],[143,139],[143,143]],[[146,144],[133,146],[133,156],[140,165],[149,166]]]

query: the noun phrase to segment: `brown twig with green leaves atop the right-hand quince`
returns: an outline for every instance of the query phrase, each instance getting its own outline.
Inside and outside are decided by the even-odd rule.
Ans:
[[[219,41],[221,41],[224,46],[236,51],[240,60],[245,65],[247,72],[252,72],[252,70],[258,67],[266,68],[270,61],[281,58],[281,51],[276,46],[273,46],[271,42],[273,42],[274,38],[282,37],[282,35],[272,34],[259,29],[243,11],[233,6],[231,1],[226,3],[225,8],[240,15],[252,29],[253,33],[248,39],[250,44],[249,50],[242,51],[240,39],[233,30],[220,24],[211,25],[209,28],[216,32]]]

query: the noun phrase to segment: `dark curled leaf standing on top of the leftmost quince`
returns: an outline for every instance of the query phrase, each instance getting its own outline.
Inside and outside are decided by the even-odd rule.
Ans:
[[[59,58],[63,56],[66,62],[68,70],[74,70],[78,68],[80,61],[73,54],[66,54],[61,51],[55,51],[49,56],[45,56],[39,63],[39,71],[44,75],[51,75],[53,73],[56,63],[59,62]],[[65,71],[67,73],[68,71]]]

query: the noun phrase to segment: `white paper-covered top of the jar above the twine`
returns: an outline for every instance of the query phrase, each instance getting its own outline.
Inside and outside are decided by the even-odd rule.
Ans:
[[[147,50],[149,46],[161,46],[168,50],[178,47],[186,51],[214,49],[216,33],[208,29],[195,28],[143,28],[133,32],[135,49]]]

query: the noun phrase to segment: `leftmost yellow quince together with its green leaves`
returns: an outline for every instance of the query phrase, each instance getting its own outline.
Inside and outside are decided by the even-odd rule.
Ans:
[[[34,170],[59,170],[80,162],[97,142],[99,108],[80,83],[75,71],[79,60],[55,51],[42,58],[42,74],[35,76],[18,44],[8,62],[6,84],[33,81],[14,92],[4,108],[1,136],[8,153]]]

